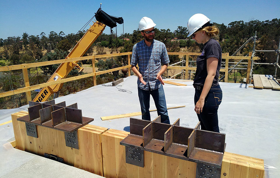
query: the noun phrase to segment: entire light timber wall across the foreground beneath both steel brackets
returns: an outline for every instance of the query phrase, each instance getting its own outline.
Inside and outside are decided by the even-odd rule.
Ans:
[[[195,177],[196,163],[144,151],[144,168],[127,164],[125,146],[129,132],[85,125],[78,129],[79,150],[65,145],[64,132],[37,126],[38,138],[27,136],[25,123],[16,119],[27,112],[12,114],[16,146],[43,156],[61,157],[64,163],[104,177]],[[31,143],[30,143],[31,142]],[[224,174],[225,173],[225,174]],[[222,178],[264,176],[264,160],[225,152]]]

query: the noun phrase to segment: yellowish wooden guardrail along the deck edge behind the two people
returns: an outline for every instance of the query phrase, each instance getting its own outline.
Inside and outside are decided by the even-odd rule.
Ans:
[[[185,66],[168,66],[167,69],[183,69],[187,73],[189,70],[196,70],[196,67],[189,67],[189,56],[190,55],[200,55],[201,53],[190,53],[190,52],[185,52],[185,53],[180,53],[180,52],[168,52],[168,55],[185,55],[186,59],[186,65]],[[123,56],[127,55],[128,58],[128,64],[126,66],[114,68],[114,69],[109,69],[105,71],[96,71],[95,70],[95,59],[99,58],[105,58],[105,57],[114,57],[114,56]],[[19,65],[12,65],[12,66],[2,66],[0,67],[0,72],[1,71],[12,71],[12,70],[19,70],[22,69],[23,77],[24,77],[24,84],[25,87],[20,88],[20,89],[15,89],[12,91],[6,91],[0,93],[0,98],[5,97],[5,96],[11,96],[14,94],[20,94],[26,92],[27,94],[27,101],[31,100],[31,94],[30,91],[35,90],[35,89],[40,89],[42,87],[47,87],[51,86],[54,84],[59,84],[59,83],[65,83],[73,80],[78,80],[82,78],[87,78],[87,77],[93,77],[94,79],[94,86],[96,85],[96,76],[101,75],[104,73],[109,73],[113,71],[118,71],[121,69],[128,68],[130,69],[130,56],[132,55],[132,52],[127,52],[127,53],[115,53],[115,54],[104,54],[104,55],[92,55],[92,56],[85,56],[85,57],[75,57],[75,58],[69,58],[69,59],[61,59],[61,60],[55,60],[55,61],[46,61],[46,62],[36,62],[36,63],[29,63],[29,64],[19,64]],[[227,82],[228,79],[228,62],[230,59],[233,60],[248,60],[248,66],[247,66],[247,75],[246,77],[249,78],[250,74],[250,69],[251,69],[251,57],[245,57],[245,56],[228,56],[228,53],[223,53],[222,54],[222,59],[225,59],[225,69],[220,69],[221,72],[225,72],[225,82]],[[70,77],[70,78],[64,78],[61,80],[53,81],[53,82],[47,82],[43,84],[37,84],[33,86],[29,86],[29,78],[28,78],[28,73],[27,69],[32,68],[32,67],[39,67],[39,66],[47,66],[47,65],[52,65],[52,64],[61,64],[64,62],[72,62],[72,61],[81,61],[81,60],[92,60],[92,73],[84,74],[84,75],[78,75],[75,77]],[[258,59],[257,57],[253,57],[253,60]],[[128,76],[130,76],[130,70],[128,70]]]

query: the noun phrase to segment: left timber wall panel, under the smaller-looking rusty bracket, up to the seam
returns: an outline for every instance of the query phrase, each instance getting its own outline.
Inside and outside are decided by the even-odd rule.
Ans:
[[[13,129],[18,149],[44,156],[54,154],[63,158],[64,163],[103,176],[101,134],[108,130],[105,127],[85,125],[78,129],[79,150],[65,145],[63,131],[36,126],[38,138],[27,136],[25,123],[17,118],[28,112],[12,114]]]

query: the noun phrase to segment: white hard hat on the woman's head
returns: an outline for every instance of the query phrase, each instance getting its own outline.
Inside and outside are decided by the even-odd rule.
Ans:
[[[203,14],[195,14],[190,17],[187,24],[188,30],[190,31],[188,37],[209,21],[210,19]]]

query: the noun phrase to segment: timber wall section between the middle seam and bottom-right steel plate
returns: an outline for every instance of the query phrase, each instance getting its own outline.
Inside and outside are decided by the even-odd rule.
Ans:
[[[128,134],[110,129],[101,135],[104,177],[195,177],[196,163],[148,151],[144,151],[144,168],[127,164],[120,141]]]

